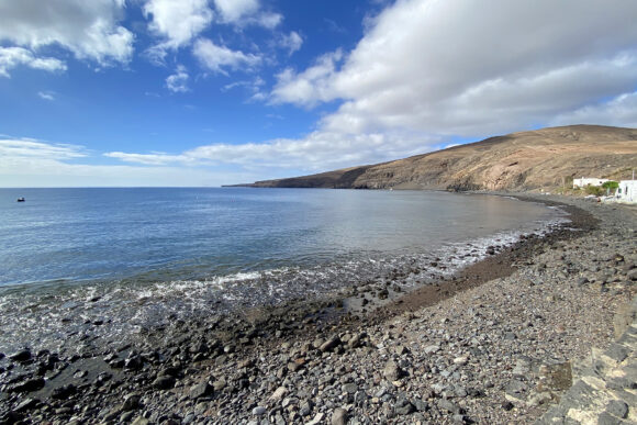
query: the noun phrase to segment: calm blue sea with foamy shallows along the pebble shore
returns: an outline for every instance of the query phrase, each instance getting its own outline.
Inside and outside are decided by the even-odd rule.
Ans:
[[[24,197],[25,202],[16,202]],[[0,189],[0,351],[126,340],[422,268],[422,284],[565,214],[510,198],[252,188]]]

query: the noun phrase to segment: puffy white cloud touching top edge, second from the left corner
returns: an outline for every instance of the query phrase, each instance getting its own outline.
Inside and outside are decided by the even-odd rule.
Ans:
[[[190,44],[214,18],[208,0],[149,0],[143,12],[150,19],[150,31],[165,38],[148,51],[158,60],[164,59],[167,49]]]

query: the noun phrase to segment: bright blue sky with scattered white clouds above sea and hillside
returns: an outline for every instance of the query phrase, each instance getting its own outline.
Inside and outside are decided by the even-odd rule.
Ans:
[[[0,0],[0,187],[215,187],[637,127],[635,0]]]

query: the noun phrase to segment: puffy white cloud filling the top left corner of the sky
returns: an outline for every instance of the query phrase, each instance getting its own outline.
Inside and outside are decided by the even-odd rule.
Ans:
[[[29,48],[41,69],[49,69],[52,58],[38,58],[43,46],[59,45],[78,59],[100,66],[127,63],[134,36],[119,25],[124,0],[20,0],[0,2],[0,41]],[[56,66],[60,68],[59,60]]]

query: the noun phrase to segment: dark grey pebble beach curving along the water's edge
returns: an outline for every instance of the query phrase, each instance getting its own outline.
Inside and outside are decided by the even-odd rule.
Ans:
[[[25,372],[3,379],[0,417],[533,422],[565,390],[535,391],[543,379],[536,370],[582,358],[613,339],[614,312],[636,292],[624,269],[637,261],[630,244],[637,220],[622,206],[505,195],[574,204],[567,209],[581,231],[523,239],[376,312],[343,313],[348,300],[339,298],[290,302],[178,323],[115,353],[58,361],[34,353],[24,365],[12,360]],[[350,298],[360,295],[357,290]],[[53,364],[44,382],[35,373],[42,362]]]

